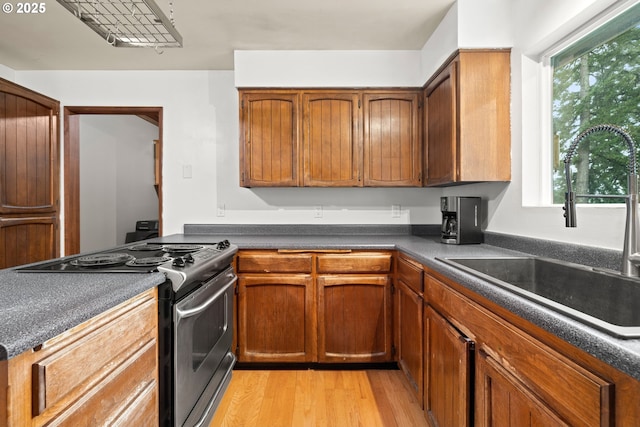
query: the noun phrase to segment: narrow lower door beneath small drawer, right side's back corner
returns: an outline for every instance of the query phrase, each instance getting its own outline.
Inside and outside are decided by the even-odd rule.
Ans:
[[[418,402],[422,404],[424,302],[420,295],[402,281],[396,286],[395,298],[398,365],[407,376]]]

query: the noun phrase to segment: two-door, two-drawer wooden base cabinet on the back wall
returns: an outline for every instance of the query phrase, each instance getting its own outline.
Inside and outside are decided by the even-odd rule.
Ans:
[[[242,250],[240,362],[391,361],[390,252]]]

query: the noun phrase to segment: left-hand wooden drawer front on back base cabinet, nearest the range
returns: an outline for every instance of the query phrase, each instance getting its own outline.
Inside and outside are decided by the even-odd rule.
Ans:
[[[311,273],[312,255],[277,252],[243,252],[238,255],[239,273]]]

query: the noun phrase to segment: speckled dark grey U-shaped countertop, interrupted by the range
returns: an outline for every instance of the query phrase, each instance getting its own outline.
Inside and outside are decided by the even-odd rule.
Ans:
[[[435,230],[435,231],[434,231]],[[418,231],[418,233],[416,233]],[[216,243],[228,239],[241,249],[400,250],[425,266],[557,335],[622,372],[640,380],[640,339],[619,339],[438,261],[436,257],[505,256],[553,253],[581,257],[591,250],[524,239],[526,244],[485,236],[492,244],[444,245],[437,227],[413,226],[205,226],[185,225],[184,234],[160,237],[163,243]],[[419,235],[416,235],[419,234]],[[499,245],[494,244],[499,243]],[[517,248],[518,250],[514,250]],[[609,253],[612,252],[612,253]],[[588,257],[615,262],[615,251]],[[582,258],[581,258],[582,259]],[[586,259],[586,258],[585,258]],[[566,259],[580,262],[580,259]],[[584,262],[589,264],[589,262]],[[11,358],[165,280],[151,274],[44,274],[0,271],[0,360]]]

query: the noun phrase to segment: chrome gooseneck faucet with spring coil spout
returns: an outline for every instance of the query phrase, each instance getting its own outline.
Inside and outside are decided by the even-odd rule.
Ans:
[[[627,171],[627,195],[598,195],[574,194],[571,187],[571,158],[574,156],[578,144],[587,136],[595,132],[612,132],[621,136],[629,147],[629,166]],[[631,135],[615,125],[597,125],[583,131],[576,137],[567,150],[564,158],[564,172],[567,180],[567,192],[564,193],[564,216],[567,227],[576,226],[576,198],[622,198],[627,205],[627,216],[624,230],[624,246],[622,248],[622,265],[620,272],[625,276],[640,276],[640,242],[638,241],[640,226],[638,223],[638,176],[636,165],[636,147]]]

